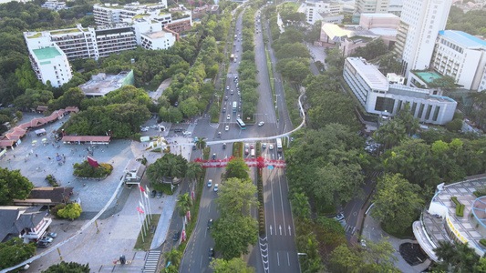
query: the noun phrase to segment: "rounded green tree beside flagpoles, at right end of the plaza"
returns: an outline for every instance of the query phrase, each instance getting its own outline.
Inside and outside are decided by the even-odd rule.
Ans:
[[[161,183],[163,177],[171,179],[173,184],[174,179],[183,178],[187,172],[187,159],[181,155],[174,155],[171,153],[165,154],[158,158],[153,164],[147,167],[147,177],[150,183]]]

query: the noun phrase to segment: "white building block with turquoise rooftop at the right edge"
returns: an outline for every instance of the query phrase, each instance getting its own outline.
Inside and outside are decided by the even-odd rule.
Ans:
[[[469,90],[478,90],[486,66],[486,41],[457,30],[441,30],[432,67],[442,76],[452,76]]]

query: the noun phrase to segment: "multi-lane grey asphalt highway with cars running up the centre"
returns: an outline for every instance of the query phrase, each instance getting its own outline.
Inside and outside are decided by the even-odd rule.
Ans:
[[[266,56],[264,49],[264,40],[262,25],[257,23],[260,21],[259,12],[255,14],[255,63],[259,73],[257,74],[257,81],[260,86],[257,91],[260,94],[255,117],[256,123],[247,125],[243,130],[236,123],[237,118],[242,117],[240,107],[243,102],[238,95],[238,85],[235,81],[237,69],[241,60],[243,52],[242,42],[242,16],[240,15],[236,21],[235,35],[232,46],[232,53],[235,58],[231,61],[228,67],[228,75],[226,85],[224,86],[224,94],[222,96],[221,116],[217,127],[208,126],[209,120],[201,120],[198,122],[194,131],[194,136],[205,136],[208,141],[224,140],[224,139],[238,139],[248,137],[262,137],[275,136],[280,132],[288,131],[291,128],[289,123],[286,108],[284,107],[284,92],[282,85],[277,94],[282,96],[273,96],[270,86],[270,79],[266,66]],[[266,34],[265,34],[266,35]],[[275,76],[277,77],[277,76]],[[232,95],[233,91],[233,95]],[[283,119],[277,121],[274,112],[274,99],[277,99],[278,106]],[[233,111],[233,104],[236,105]],[[285,118],[287,116],[287,118]],[[243,117],[243,121],[246,118]],[[257,126],[258,122],[264,121],[264,126]],[[287,125],[285,125],[287,124]],[[256,143],[245,143],[255,146]],[[274,142],[266,142],[266,148],[262,149],[262,156],[266,159],[278,159],[282,157],[282,153],[278,153]],[[270,149],[273,145],[273,149]],[[217,159],[231,157],[232,145],[228,144],[226,149],[222,148],[222,144],[212,145],[211,153],[215,154]],[[251,153],[244,157],[252,157]],[[217,219],[219,212],[215,208],[214,199],[217,193],[213,191],[214,185],[222,184],[223,168],[207,168],[206,179],[204,183],[201,207],[198,216],[198,223],[194,228],[190,241],[188,242],[186,251],[181,259],[180,272],[211,272],[209,268],[210,258],[209,249],[213,248],[214,240],[210,236],[211,230],[207,228],[209,219]],[[255,170],[252,169],[250,177],[256,183]],[[212,187],[207,186],[209,179],[212,179]],[[266,235],[260,238],[259,243],[250,249],[250,254],[245,258],[249,266],[256,268],[257,272],[299,272],[297,253],[295,250],[295,231],[294,221],[288,200],[288,187],[284,176],[284,169],[264,169],[264,209],[266,218]],[[256,210],[252,215],[256,215]],[[221,253],[216,253],[216,258],[221,258]]]

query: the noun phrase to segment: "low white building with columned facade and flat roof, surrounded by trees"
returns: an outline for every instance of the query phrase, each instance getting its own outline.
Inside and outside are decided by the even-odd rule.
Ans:
[[[390,85],[387,77],[363,58],[348,57],[343,76],[367,113],[395,116],[406,104],[421,122],[444,125],[454,116],[457,102],[432,90]]]

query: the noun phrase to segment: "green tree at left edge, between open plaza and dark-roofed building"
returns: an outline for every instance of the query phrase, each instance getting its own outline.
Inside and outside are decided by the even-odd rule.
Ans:
[[[12,199],[24,200],[34,185],[20,174],[20,170],[0,168],[0,205],[9,205]]]

